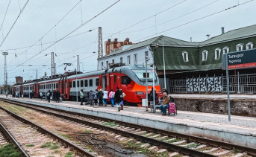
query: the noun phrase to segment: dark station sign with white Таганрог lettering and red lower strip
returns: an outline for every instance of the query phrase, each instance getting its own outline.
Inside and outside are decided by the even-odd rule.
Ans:
[[[226,64],[226,56],[228,56],[228,64]],[[222,67],[228,70],[240,68],[255,68],[256,67],[256,49],[231,52],[222,55]]]

